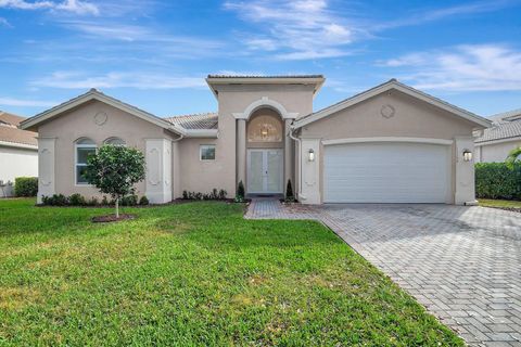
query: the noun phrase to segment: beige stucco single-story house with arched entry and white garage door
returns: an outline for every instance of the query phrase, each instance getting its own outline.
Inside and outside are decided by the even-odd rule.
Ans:
[[[34,116],[38,195],[98,195],[80,172],[103,143],[145,153],[152,203],[182,191],[283,194],[320,203],[472,204],[473,131],[491,123],[396,80],[319,112],[308,76],[208,76],[217,113],[160,118],[94,89]],[[467,160],[463,159],[463,153]]]

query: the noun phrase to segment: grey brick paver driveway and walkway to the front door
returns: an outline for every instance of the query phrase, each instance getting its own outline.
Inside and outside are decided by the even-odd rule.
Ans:
[[[521,346],[521,215],[448,205],[252,204],[246,218],[314,218],[470,345]]]

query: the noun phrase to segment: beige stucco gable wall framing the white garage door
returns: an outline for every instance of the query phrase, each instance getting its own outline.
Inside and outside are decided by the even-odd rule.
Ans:
[[[394,116],[385,118],[381,114],[382,106],[392,105]],[[325,140],[397,137],[455,140],[472,136],[474,124],[457,117],[448,112],[430,105],[423,101],[399,91],[385,92],[364,102],[342,110],[326,118],[304,126],[302,139],[320,141],[320,153],[323,153]],[[456,141],[455,141],[456,142]],[[303,149],[306,151],[306,149]],[[452,145],[452,185],[453,196],[456,191],[456,143]],[[458,154],[459,155],[459,154]],[[320,201],[323,195],[322,175],[323,158],[318,157]],[[470,163],[468,163],[471,165]],[[472,179],[473,178],[469,178]],[[453,200],[454,202],[454,200]]]

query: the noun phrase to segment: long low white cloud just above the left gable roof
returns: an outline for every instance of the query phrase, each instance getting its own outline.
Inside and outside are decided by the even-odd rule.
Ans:
[[[77,72],[55,72],[30,82],[34,87],[60,89],[178,89],[178,88],[205,88],[204,78],[167,76],[158,73],[118,73],[111,72],[93,76]]]

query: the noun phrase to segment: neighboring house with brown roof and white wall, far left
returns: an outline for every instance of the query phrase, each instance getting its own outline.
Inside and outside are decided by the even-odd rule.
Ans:
[[[37,133],[18,129],[24,119],[0,111],[0,197],[13,195],[16,177],[38,176]]]

